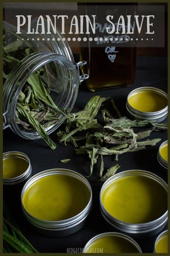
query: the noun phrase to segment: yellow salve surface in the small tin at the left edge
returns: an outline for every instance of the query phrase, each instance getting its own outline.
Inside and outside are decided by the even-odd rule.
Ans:
[[[3,160],[3,178],[15,178],[28,169],[29,163],[18,157],[11,157]]]

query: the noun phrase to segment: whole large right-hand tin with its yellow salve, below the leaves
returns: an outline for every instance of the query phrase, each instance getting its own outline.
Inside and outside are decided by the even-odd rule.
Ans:
[[[167,187],[151,172],[121,172],[109,178],[101,188],[101,213],[109,224],[124,233],[156,234],[168,219]]]

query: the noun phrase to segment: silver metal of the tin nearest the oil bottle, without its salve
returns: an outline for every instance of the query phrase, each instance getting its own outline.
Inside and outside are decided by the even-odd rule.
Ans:
[[[149,90],[149,91],[154,91],[157,92],[158,94],[160,94],[161,96],[164,96],[167,99],[168,102],[168,95],[166,94],[166,92],[155,88],[155,87],[140,87],[137,88],[133,91],[130,92],[130,94],[127,97],[127,101],[126,101],[126,109],[128,110],[129,114],[131,117],[137,119],[137,120],[149,120],[151,122],[155,122],[155,123],[160,123],[162,122],[167,116],[168,116],[168,105],[163,108],[160,111],[156,111],[156,112],[143,112],[143,111],[139,111],[136,110],[135,108],[133,108],[130,104],[128,99],[132,96],[137,94],[138,92],[141,91],[145,91],[145,90]]]

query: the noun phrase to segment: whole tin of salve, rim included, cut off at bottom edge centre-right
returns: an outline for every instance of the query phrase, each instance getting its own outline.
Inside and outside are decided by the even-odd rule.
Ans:
[[[85,253],[142,252],[135,240],[121,233],[103,233],[92,238],[84,247]]]

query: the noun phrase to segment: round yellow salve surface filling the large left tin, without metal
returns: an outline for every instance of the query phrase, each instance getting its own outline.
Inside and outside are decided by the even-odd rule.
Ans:
[[[79,214],[88,204],[90,192],[77,178],[50,175],[41,178],[24,193],[27,212],[42,220],[64,220]]]

